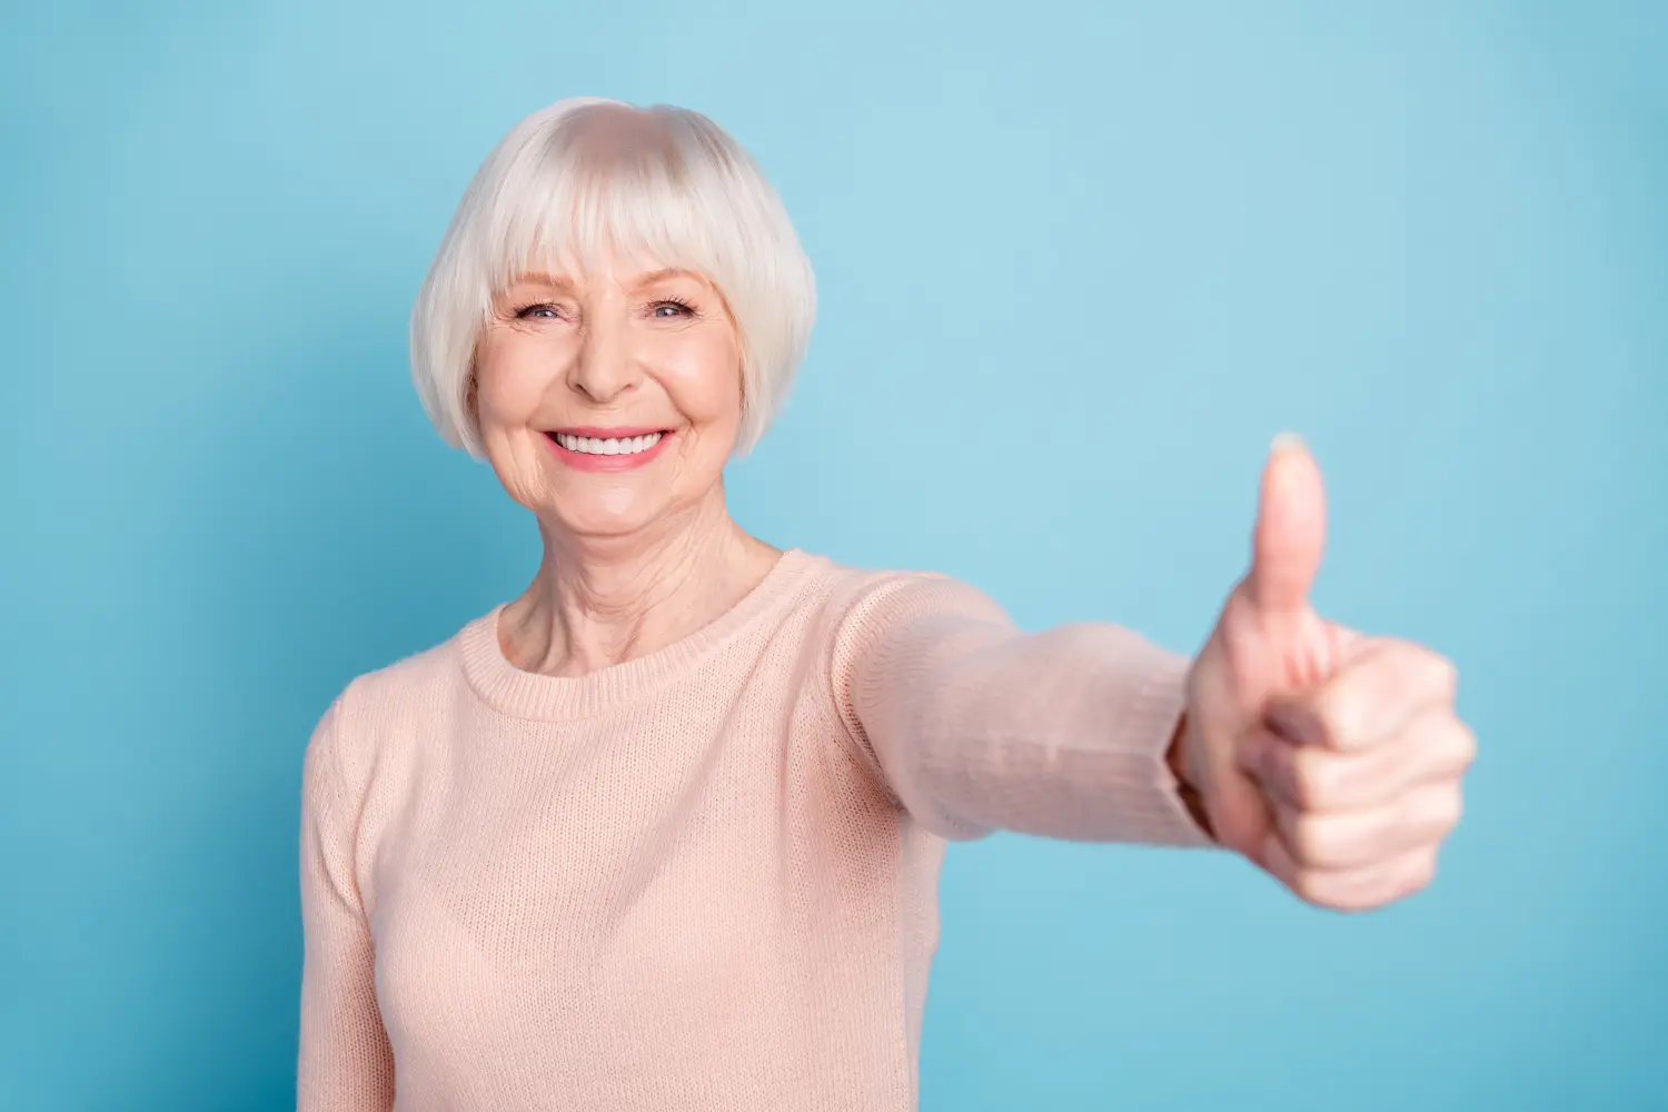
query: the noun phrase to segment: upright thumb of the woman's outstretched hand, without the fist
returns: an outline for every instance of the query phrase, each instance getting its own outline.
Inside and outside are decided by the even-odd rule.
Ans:
[[[1308,607],[1326,547],[1326,488],[1321,468],[1291,433],[1274,437],[1263,468],[1263,493],[1251,538],[1251,605],[1264,614]]]

